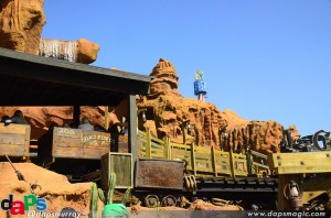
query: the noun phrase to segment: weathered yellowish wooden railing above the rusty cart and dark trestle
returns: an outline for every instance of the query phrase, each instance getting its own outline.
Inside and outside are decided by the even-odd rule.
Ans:
[[[269,170],[266,164],[258,162],[259,159],[267,159],[266,155],[252,151],[247,155],[218,151],[214,146],[195,146],[194,143],[178,144],[169,138],[159,140],[151,137],[150,131],[138,132],[138,156],[143,159],[183,160],[188,163],[186,168],[194,175],[203,176],[248,176],[258,174],[260,168]],[[256,157],[258,156],[258,159]],[[249,167],[249,168],[248,168]]]

